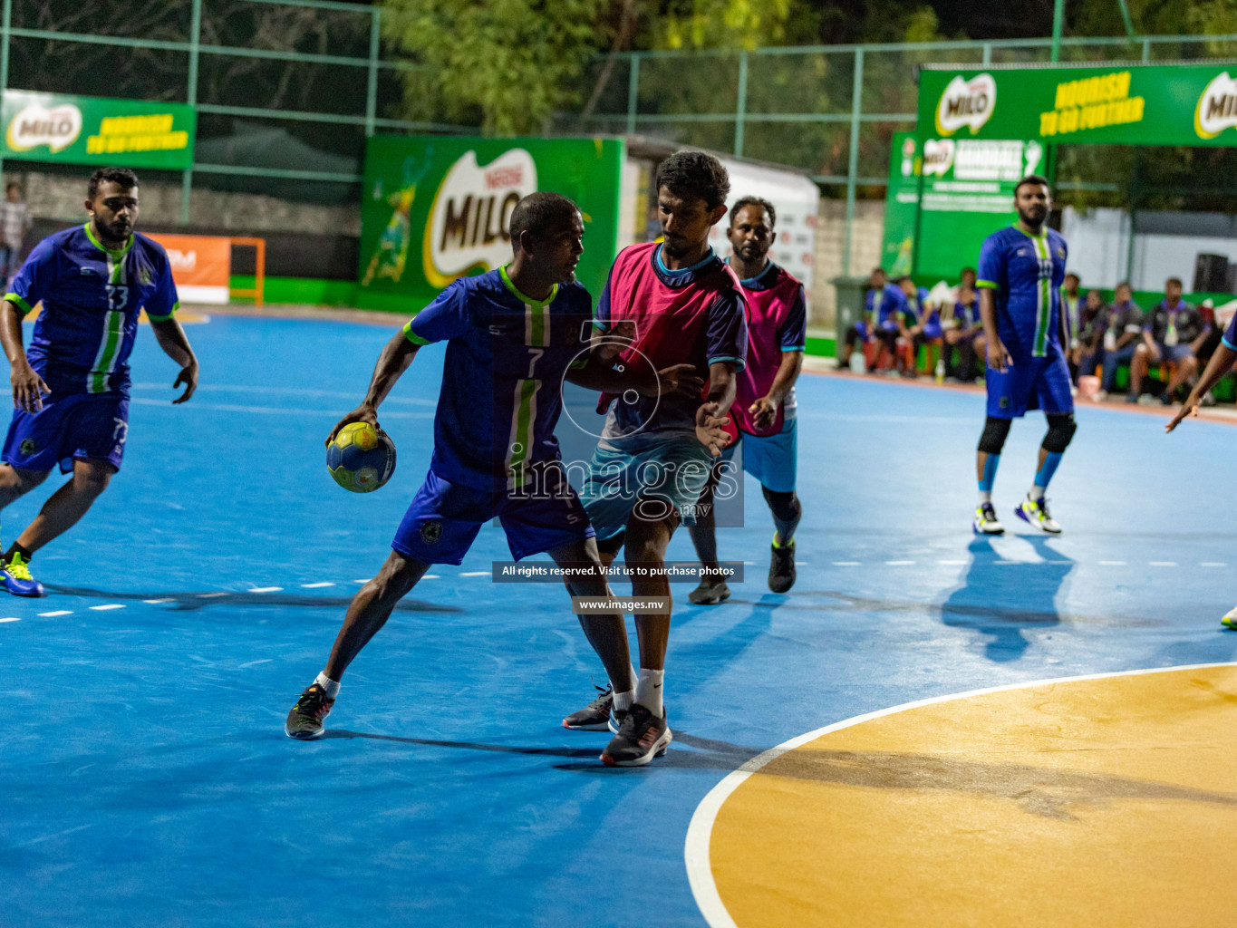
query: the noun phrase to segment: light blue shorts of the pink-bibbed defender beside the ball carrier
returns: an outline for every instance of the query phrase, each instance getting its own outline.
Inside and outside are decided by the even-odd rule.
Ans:
[[[641,438],[646,440],[631,452],[600,444],[593,452],[580,500],[597,538],[614,538],[625,531],[632,512],[649,522],[678,512],[683,525],[695,525],[695,505],[714,460],[709,449],[688,432],[656,440]]]

